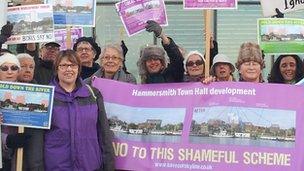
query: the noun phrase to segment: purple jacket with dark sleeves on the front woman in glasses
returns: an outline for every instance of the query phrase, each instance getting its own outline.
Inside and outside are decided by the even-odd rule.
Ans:
[[[96,99],[81,80],[71,93],[65,92],[56,79],[51,84],[55,85],[55,95],[51,129],[45,133],[45,170],[92,171],[105,167],[102,139],[110,137],[100,134]]]

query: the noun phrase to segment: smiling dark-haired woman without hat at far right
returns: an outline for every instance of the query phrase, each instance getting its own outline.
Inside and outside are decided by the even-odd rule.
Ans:
[[[295,84],[303,76],[303,62],[298,55],[280,55],[273,64],[268,82]]]

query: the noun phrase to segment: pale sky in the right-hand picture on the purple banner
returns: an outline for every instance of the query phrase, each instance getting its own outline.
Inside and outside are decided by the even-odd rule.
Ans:
[[[204,108],[204,112],[194,113],[193,119],[198,123],[207,122],[209,119],[229,121],[231,116],[237,116],[242,122],[251,122],[258,126],[280,125],[288,129],[296,125],[296,112],[292,110],[247,108],[232,106],[216,106]]]

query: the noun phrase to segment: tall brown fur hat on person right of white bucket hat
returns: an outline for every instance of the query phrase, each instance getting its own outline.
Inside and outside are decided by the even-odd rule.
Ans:
[[[246,42],[241,45],[239,56],[235,66],[237,69],[240,69],[240,66],[244,62],[249,62],[249,61],[258,62],[262,68],[265,68],[265,62],[263,59],[262,50],[260,46],[256,43]]]

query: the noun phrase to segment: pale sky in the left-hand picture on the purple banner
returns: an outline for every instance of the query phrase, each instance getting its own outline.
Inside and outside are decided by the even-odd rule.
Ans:
[[[105,102],[108,118],[117,116],[127,123],[143,123],[147,119],[161,119],[162,126],[184,122],[185,108],[139,108]]]

